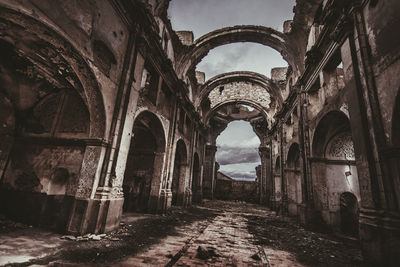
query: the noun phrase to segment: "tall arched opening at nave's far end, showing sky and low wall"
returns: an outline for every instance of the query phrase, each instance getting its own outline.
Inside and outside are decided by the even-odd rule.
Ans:
[[[215,197],[258,202],[257,187],[261,185],[259,180],[263,172],[258,151],[260,139],[250,122],[230,122],[218,136],[216,145],[219,169],[216,174]]]

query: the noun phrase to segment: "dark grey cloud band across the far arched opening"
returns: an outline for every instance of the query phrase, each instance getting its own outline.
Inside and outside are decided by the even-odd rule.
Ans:
[[[219,147],[217,160],[220,165],[260,162],[257,149],[246,147]]]

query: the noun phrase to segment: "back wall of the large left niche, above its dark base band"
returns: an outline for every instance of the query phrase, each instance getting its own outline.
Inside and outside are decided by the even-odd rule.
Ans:
[[[90,124],[80,96],[73,90],[49,94],[32,110],[19,111],[17,123],[3,182],[17,191],[74,196]]]

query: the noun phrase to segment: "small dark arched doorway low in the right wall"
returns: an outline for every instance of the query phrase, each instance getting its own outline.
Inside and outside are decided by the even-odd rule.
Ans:
[[[343,234],[358,237],[358,202],[350,192],[340,195],[340,228]]]

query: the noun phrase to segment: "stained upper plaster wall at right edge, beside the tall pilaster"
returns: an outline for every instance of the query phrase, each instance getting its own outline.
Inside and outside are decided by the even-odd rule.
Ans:
[[[400,88],[400,37],[397,11],[399,1],[381,0],[375,6],[367,5],[363,10],[366,31],[371,47],[372,68],[375,74],[378,99],[382,112],[382,122],[386,140],[393,143],[397,136],[392,135],[392,119],[396,96]]]

